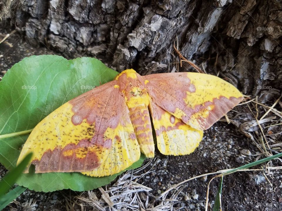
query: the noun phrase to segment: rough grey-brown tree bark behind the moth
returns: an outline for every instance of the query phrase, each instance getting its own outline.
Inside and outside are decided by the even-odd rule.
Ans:
[[[7,0],[0,8],[2,26],[64,55],[83,52],[118,71],[171,72],[178,40],[182,55],[244,93],[280,95],[278,0]]]

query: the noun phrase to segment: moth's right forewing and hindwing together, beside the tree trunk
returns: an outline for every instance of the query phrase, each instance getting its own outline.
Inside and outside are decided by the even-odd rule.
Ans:
[[[241,93],[226,81],[200,73],[142,76],[150,95],[150,112],[162,154],[193,152],[203,131],[236,106]]]

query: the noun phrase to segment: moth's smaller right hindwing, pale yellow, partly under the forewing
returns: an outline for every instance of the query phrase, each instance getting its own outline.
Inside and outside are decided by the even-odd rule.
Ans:
[[[185,124],[152,101],[149,107],[156,132],[157,147],[162,154],[185,155],[198,147],[203,131]]]

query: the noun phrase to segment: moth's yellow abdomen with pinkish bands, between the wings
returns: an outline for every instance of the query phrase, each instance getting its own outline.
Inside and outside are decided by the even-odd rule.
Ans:
[[[155,145],[148,107],[146,105],[138,105],[129,108],[129,112],[140,151],[146,157],[154,157]]]

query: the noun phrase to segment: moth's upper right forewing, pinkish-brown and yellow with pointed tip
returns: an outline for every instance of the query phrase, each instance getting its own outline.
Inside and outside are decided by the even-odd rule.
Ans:
[[[187,125],[206,130],[243,100],[216,76],[181,72],[142,76],[152,101]]]

